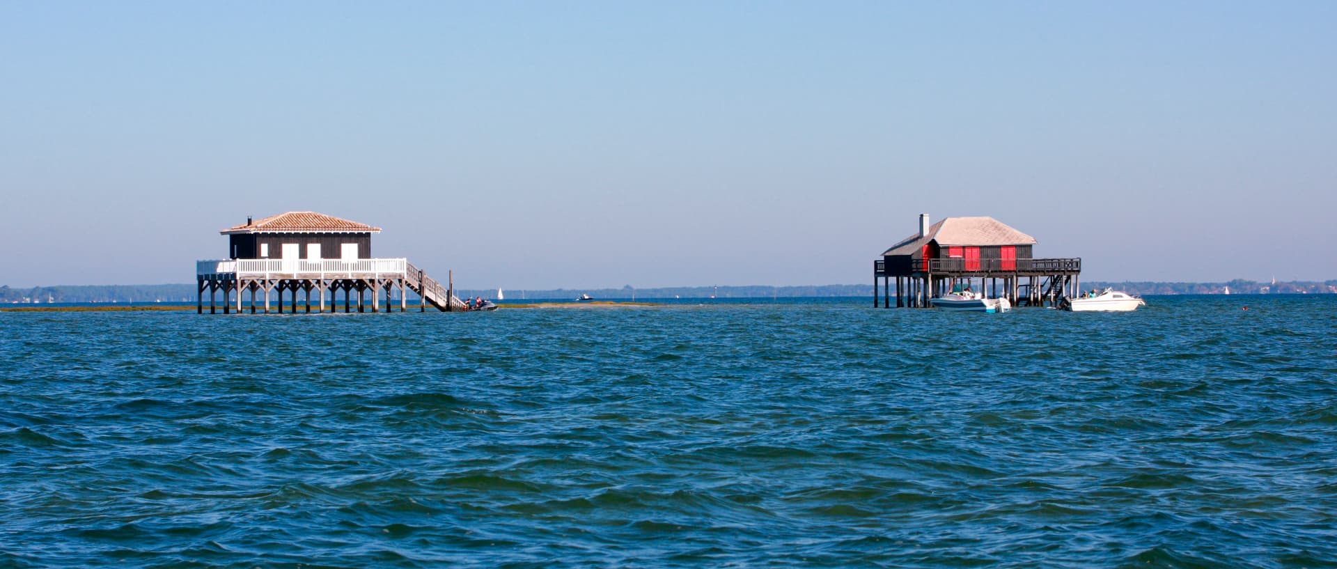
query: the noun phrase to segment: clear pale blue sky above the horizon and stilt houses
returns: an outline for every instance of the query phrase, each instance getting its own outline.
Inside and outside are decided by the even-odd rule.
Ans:
[[[1337,278],[1337,3],[0,0],[0,283],[313,210],[465,287],[872,283],[991,215],[1087,280]]]

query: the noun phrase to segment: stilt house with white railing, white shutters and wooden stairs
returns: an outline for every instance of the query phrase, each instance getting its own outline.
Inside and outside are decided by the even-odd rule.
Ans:
[[[338,310],[338,293],[344,293],[344,311],[393,309],[393,293],[398,290],[400,311],[408,309],[409,290],[420,297],[420,310],[431,305],[449,311],[464,307],[455,298],[453,287],[443,286],[421,268],[402,258],[372,256],[372,235],[380,227],[340,219],[314,211],[289,211],[261,220],[246,218],[245,224],[219,231],[227,235],[227,259],[195,262],[198,295],[197,313],[205,311],[205,293],[209,293],[209,313],[218,311],[218,293],[222,293],[222,311],[241,313],[242,297],[250,293],[250,311],[257,311],[257,295],[263,295],[263,310],[277,303],[298,311],[298,294],[305,294],[306,313]],[[285,297],[290,295],[290,302]],[[370,298],[368,298],[370,295]],[[368,306],[370,305],[370,306]]]

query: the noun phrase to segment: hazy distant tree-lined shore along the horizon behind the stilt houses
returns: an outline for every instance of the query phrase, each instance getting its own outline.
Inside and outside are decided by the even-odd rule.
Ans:
[[[1191,282],[1148,282],[1084,280],[1082,289],[1112,287],[1131,294],[1222,294],[1230,287],[1230,294],[1334,294],[1337,280],[1290,280],[1257,282],[1234,279],[1223,283]],[[695,286],[695,287],[654,287],[636,289],[631,284],[622,289],[543,289],[508,290],[507,301],[517,299],[575,299],[588,294],[598,299],[630,301],[652,298],[796,298],[796,297],[872,297],[872,284],[820,284],[820,286]],[[496,297],[496,289],[460,289],[460,298]],[[410,294],[409,298],[417,298]],[[32,289],[12,289],[0,286],[0,303],[24,302],[195,302],[195,284],[83,284],[83,286],[39,286]]]

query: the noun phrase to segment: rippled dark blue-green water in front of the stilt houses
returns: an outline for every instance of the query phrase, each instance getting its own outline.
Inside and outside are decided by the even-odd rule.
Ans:
[[[1337,297],[870,303],[0,313],[0,566],[1337,566]]]

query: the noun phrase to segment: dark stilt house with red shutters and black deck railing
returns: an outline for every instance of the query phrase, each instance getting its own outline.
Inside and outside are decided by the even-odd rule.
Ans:
[[[901,239],[873,262],[873,306],[892,306],[896,280],[897,307],[928,307],[955,284],[979,279],[992,298],[1012,306],[1058,306],[1080,290],[1082,259],[1036,259],[1035,238],[997,219],[947,218],[929,224],[920,215],[919,232]],[[1001,284],[1001,290],[999,286]]]

